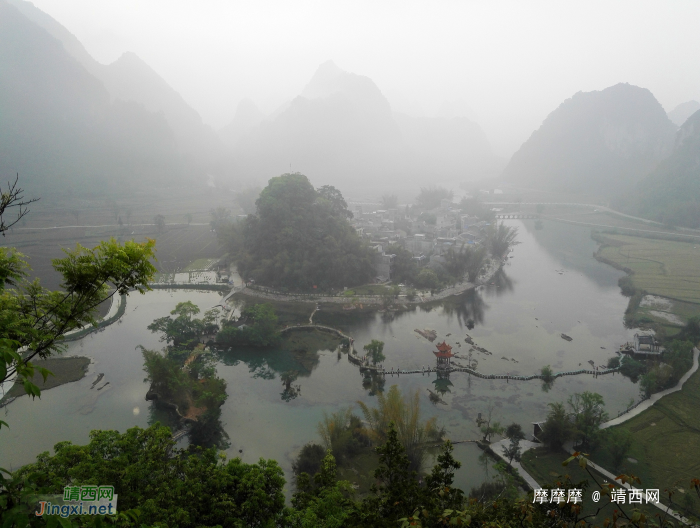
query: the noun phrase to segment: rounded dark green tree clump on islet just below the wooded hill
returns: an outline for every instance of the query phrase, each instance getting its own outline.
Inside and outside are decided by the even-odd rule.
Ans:
[[[254,304],[246,307],[241,312],[238,323],[245,326],[236,326],[233,323],[224,323],[216,335],[216,342],[221,346],[253,346],[270,347],[281,340],[277,330],[277,315],[274,307],[269,303]]]

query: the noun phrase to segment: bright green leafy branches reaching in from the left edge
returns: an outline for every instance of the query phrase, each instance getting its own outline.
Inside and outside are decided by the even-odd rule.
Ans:
[[[61,338],[69,331],[95,324],[97,306],[114,294],[132,289],[145,293],[155,274],[151,263],[155,241],[119,244],[114,239],[88,249],[80,245],[64,250],[53,267],[63,276],[61,291],[49,291],[38,280],[27,282],[28,266],[14,249],[0,251],[0,383],[14,379],[27,394],[40,395],[30,380],[38,371],[31,360],[61,350]],[[11,288],[8,288],[11,286]],[[27,347],[27,352],[19,350]],[[4,423],[4,422],[2,422]]]

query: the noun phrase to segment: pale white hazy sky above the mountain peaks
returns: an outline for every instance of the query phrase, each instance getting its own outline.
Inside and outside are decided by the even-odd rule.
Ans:
[[[700,2],[34,0],[100,62],[133,51],[215,128],[271,112],[318,65],[372,78],[396,110],[468,105],[510,156],[577,91],[700,100]]]

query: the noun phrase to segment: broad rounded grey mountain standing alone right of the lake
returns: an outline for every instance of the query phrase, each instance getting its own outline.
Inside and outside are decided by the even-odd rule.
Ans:
[[[611,195],[671,153],[675,130],[647,89],[617,84],[579,92],[547,116],[503,177],[516,185]]]

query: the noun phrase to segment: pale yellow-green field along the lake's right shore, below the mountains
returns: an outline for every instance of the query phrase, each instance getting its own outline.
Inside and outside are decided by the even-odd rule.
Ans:
[[[599,255],[632,270],[632,282],[652,295],[700,303],[700,243],[605,235]]]

